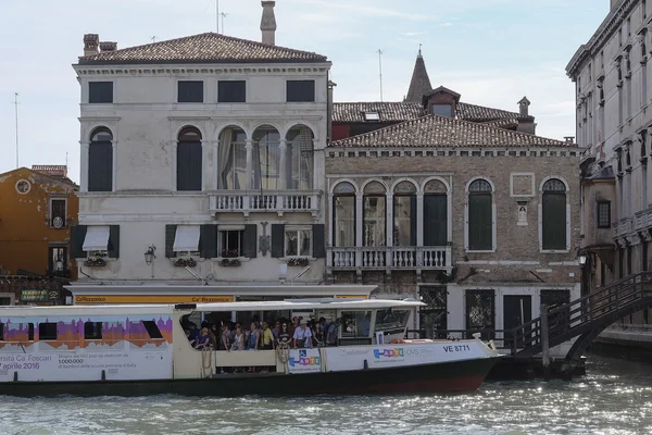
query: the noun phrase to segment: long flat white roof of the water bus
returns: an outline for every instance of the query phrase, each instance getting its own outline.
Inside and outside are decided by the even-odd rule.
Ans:
[[[0,318],[24,316],[66,316],[66,315],[147,315],[172,314],[174,312],[227,312],[227,311],[308,311],[308,310],[387,310],[410,309],[425,303],[414,299],[287,299],[274,301],[213,302],[213,303],[177,303],[177,304],[85,304],[29,307],[14,306],[0,308]]]

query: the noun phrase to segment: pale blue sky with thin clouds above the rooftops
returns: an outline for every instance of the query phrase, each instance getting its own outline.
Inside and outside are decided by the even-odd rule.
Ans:
[[[218,0],[221,32],[261,40],[259,0]],[[609,12],[609,0],[277,0],[276,44],[333,62],[336,101],[401,101],[422,46],[432,87],[472,104],[518,111],[537,134],[575,136],[565,66]],[[0,0],[0,173],[68,164],[79,181],[84,34],[118,49],[216,30],[216,0]],[[222,27],[222,21],[224,26]],[[378,50],[383,54],[378,53]]]

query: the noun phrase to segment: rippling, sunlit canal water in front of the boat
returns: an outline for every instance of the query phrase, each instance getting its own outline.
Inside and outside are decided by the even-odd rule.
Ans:
[[[572,382],[490,382],[454,396],[0,396],[0,434],[652,434],[652,359],[591,355],[587,371]]]

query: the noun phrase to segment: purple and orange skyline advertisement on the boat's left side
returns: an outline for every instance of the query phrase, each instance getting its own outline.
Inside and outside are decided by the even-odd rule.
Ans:
[[[0,382],[172,378],[172,316],[0,319]]]

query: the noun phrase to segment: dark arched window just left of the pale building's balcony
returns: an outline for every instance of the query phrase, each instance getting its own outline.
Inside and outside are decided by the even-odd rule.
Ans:
[[[179,132],[177,142],[177,190],[201,190],[201,133],[195,127]]]

